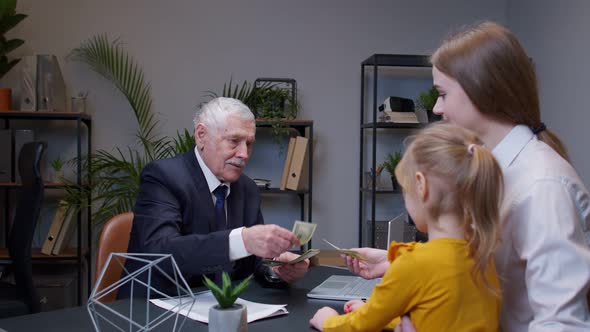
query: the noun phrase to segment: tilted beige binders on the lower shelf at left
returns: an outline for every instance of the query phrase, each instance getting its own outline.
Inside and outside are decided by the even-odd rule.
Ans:
[[[68,213],[63,201],[60,201],[41,247],[41,253],[45,255],[59,255],[63,252],[73,233],[74,222],[72,213]]]

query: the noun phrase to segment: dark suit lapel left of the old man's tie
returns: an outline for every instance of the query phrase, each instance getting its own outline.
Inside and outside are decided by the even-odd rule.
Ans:
[[[185,164],[189,168],[191,175],[191,182],[195,186],[196,196],[191,202],[197,206],[198,216],[202,216],[208,222],[209,232],[215,232],[217,230],[217,222],[215,218],[215,206],[213,205],[213,198],[207,185],[207,180],[203,174],[203,170],[199,166],[197,156],[195,156],[194,146],[188,152],[183,154]],[[200,218],[197,217],[197,220]],[[201,226],[202,227],[202,226]],[[199,227],[197,227],[198,229]]]

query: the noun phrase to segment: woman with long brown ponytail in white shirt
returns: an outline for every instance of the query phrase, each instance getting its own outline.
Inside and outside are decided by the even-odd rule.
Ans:
[[[531,59],[510,31],[484,22],[446,40],[431,61],[434,112],[474,131],[504,174],[502,331],[590,331],[590,199],[541,121]]]

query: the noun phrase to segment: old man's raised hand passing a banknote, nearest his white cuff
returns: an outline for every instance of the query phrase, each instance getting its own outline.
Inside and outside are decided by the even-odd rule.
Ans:
[[[277,225],[256,225],[242,229],[246,250],[252,255],[277,257],[292,246],[299,246],[299,239],[290,231]]]

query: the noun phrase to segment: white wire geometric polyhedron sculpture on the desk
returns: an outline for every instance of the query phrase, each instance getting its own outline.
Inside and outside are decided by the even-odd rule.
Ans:
[[[125,268],[125,260],[128,259],[141,262],[144,265],[133,273],[129,273]],[[99,289],[105,272],[110,268],[121,269],[123,271],[122,277],[111,285]],[[151,286],[151,276],[155,270],[174,283],[176,286],[174,294],[167,294],[165,291]],[[172,271],[172,275],[166,271]],[[147,276],[145,278],[147,283],[143,282],[139,276]],[[102,303],[100,301],[102,297],[118,290],[122,285],[127,283],[131,284],[129,303],[126,303],[126,301]],[[133,290],[137,286],[146,288],[145,294],[147,296],[145,298],[143,296],[141,298],[133,297]],[[152,298],[179,298],[180,301],[178,301],[178,304],[174,308],[178,308],[179,310],[166,310],[163,313],[159,313],[160,310],[150,306],[150,300]],[[107,330],[123,332],[151,331],[172,317],[174,317],[172,331],[180,331],[187,317],[180,315],[179,312],[185,308],[191,310],[194,303],[195,296],[182,276],[182,273],[180,273],[180,269],[176,265],[172,255],[111,253],[100,273],[100,277],[96,280],[94,289],[88,299],[87,309],[94,329],[97,332]]]

